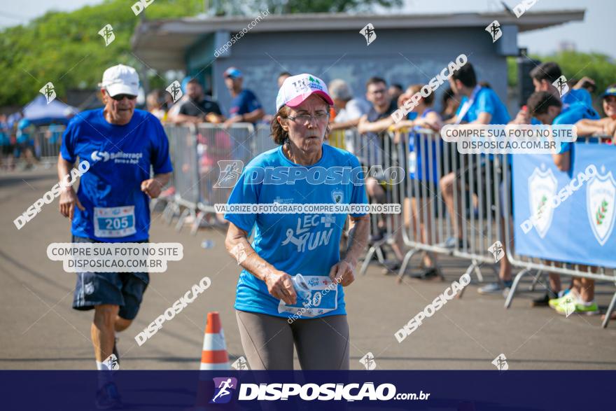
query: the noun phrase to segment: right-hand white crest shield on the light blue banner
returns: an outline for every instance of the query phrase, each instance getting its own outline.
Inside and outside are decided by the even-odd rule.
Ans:
[[[601,167],[605,172],[605,167]],[[616,181],[612,172],[597,174],[586,189],[586,208],[590,226],[597,242],[603,246],[614,228],[616,213]]]

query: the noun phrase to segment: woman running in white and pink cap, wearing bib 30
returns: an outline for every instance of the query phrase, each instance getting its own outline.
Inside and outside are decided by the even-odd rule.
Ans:
[[[233,189],[232,204],[367,204],[357,158],[323,145],[333,102],[320,78],[286,78],[276,98],[272,137],[278,148],[255,157]],[[349,179],[350,175],[359,176]],[[306,210],[304,210],[306,211]],[[348,370],[349,286],[368,237],[369,216],[349,214],[349,246],[339,242],[347,214],[228,212],[225,245],[244,270],[235,309],[253,370]],[[248,233],[255,228],[252,244]]]

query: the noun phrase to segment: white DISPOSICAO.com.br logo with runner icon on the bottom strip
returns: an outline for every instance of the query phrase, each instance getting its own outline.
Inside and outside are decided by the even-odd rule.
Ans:
[[[210,403],[228,403],[232,398],[232,391],[237,389],[237,379],[232,377],[214,378],[214,397]],[[364,382],[363,384],[341,384],[328,382],[325,384],[240,384],[237,400],[288,400],[289,397],[298,396],[301,400],[346,400],[346,401],[387,401],[387,400],[427,400],[430,393],[396,393],[394,384],[379,384]]]

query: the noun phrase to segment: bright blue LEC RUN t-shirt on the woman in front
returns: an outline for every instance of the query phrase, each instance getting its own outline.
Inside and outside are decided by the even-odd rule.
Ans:
[[[257,174],[253,167],[284,167],[292,174],[297,165],[283,154],[282,146],[255,157],[242,172],[228,204],[367,204],[361,179],[351,182],[311,184],[296,179],[293,184],[251,183]],[[360,167],[359,161],[347,151],[323,144],[323,155],[313,167]],[[363,176],[363,174],[360,174]],[[256,182],[256,181],[255,181]],[[314,181],[312,181],[314,182]],[[363,214],[351,214],[362,216]],[[255,227],[252,247],[258,255],[277,270],[294,276],[302,274],[310,288],[306,299],[297,295],[297,303],[287,306],[272,297],[264,281],[243,270],[237,281],[235,309],[290,318],[314,318],[346,314],[344,291],[329,278],[332,265],[338,263],[339,243],[346,214],[225,214],[225,218],[241,230]],[[302,311],[300,311],[300,309]],[[299,312],[299,314],[298,314]],[[297,318],[297,317],[296,317]]]

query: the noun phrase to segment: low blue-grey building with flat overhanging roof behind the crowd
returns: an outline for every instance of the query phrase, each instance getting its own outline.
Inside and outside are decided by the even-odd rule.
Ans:
[[[503,101],[507,101],[507,56],[519,55],[517,34],[584,19],[583,10],[524,13],[462,13],[440,15],[293,14],[260,16],[246,34],[220,53],[232,36],[254,18],[183,18],[144,20],[132,47],[148,67],[182,70],[211,89],[223,110],[231,97],[223,71],[235,66],[244,87],[253,90],[267,113],[274,113],[281,71],[311,73],[328,83],[343,78],[356,97],[365,81],[380,76],[407,86],[426,84],[458,55],[465,54]],[[498,20],[503,35],[496,42],[485,28]],[[360,30],[374,26],[376,39],[367,46]],[[218,57],[216,57],[218,56]],[[437,96],[447,84],[437,90]]]

